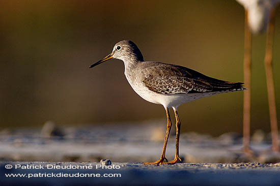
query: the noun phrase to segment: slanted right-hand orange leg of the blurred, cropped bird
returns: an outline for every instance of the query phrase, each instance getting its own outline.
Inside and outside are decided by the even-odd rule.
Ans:
[[[266,85],[267,85],[267,96],[269,105],[269,117],[271,127],[271,138],[272,138],[272,150],[274,152],[279,151],[278,146],[278,129],[277,129],[277,113],[275,104],[275,92],[273,83],[273,72],[272,72],[272,47],[273,47],[273,30],[275,22],[275,10],[271,11],[269,24],[267,25],[267,38],[266,38],[266,51],[265,51],[265,74],[266,74]]]

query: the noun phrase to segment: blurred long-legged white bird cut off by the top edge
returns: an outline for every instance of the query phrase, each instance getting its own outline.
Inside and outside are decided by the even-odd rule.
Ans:
[[[272,72],[272,44],[275,22],[275,6],[280,0],[236,0],[245,9],[244,35],[244,83],[248,88],[244,92],[243,105],[243,149],[250,154],[250,88],[251,88],[251,32],[259,34],[267,29],[265,51],[265,74],[268,92],[269,117],[272,138],[272,150],[279,151],[277,113]]]

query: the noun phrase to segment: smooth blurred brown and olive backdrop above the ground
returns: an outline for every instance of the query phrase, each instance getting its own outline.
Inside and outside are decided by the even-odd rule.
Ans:
[[[145,120],[154,119],[165,127],[163,107],[135,94],[121,60],[89,69],[124,39],[135,42],[145,60],[243,82],[244,9],[234,0],[1,1],[0,7],[0,129],[41,127],[47,120],[94,126],[149,125]],[[253,36],[253,132],[270,130],[265,37]],[[277,8],[273,70],[278,120],[279,41]],[[242,104],[240,91],[182,105],[182,132],[242,133]]]

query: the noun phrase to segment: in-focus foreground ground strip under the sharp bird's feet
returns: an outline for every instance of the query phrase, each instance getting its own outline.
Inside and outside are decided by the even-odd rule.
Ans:
[[[11,165],[11,169],[5,166]],[[41,165],[41,167],[40,167]],[[17,166],[17,168],[16,168]],[[35,169],[37,166],[38,169]],[[68,167],[63,167],[68,166]],[[76,167],[75,167],[76,166]],[[80,169],[83,166],[83,169]],[[61,169],[64,168],[64,169]],[[111,169],[109,169],[111,168]],[[23,177],[7,177],[7,174]],[[41,174],[40,174],[41,173]],[[280,164],[1,162],[0,185],[279,185]],[[113,176],[115,177],[105,177]],[[63,177],[67,176],[68,177]],[[91,175],[91,176],[90,176]],[[37,176],[37,177],[36,177]],[[51,176],[51,177],[46,177]],[[74,177],[70,177],[74,176]],[[94,177],[95,176],[95,177]],[[97,177],[100,176],[100,177]]]

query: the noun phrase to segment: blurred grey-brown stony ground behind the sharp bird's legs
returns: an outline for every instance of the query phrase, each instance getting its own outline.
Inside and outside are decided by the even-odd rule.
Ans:
[[[59,128],[46,123],[43,129],[0,131],[0,161],[49,162],[151,162],[159,158],[165,134],[162,121],[149,125],[98,125],[97,127]],[[150,123],[153,123],[151,125]],[[173,130],[174,132],[174,130]],[[242,151],[242,137],[226,133],[219,137],[182,133],[180,157],[183,163],[278,163],[279,154],[271,152],[269,134],[259,132],[251,138],[254,156]],[[166,158],[175,153],[175,134],[166,149]]]

